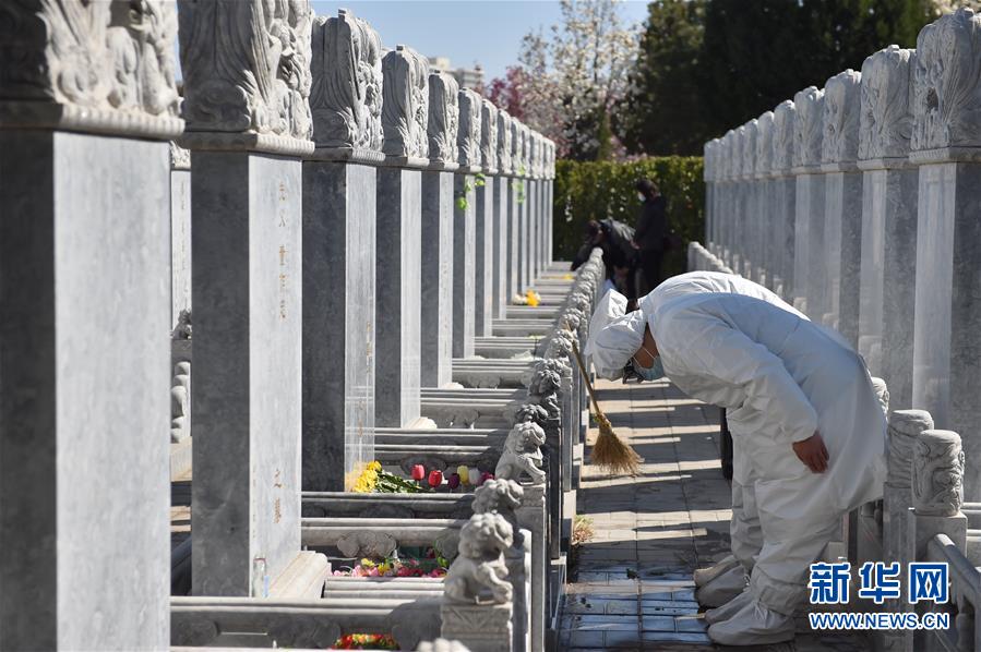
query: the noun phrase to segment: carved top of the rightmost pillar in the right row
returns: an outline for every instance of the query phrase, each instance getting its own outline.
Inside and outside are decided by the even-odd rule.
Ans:
[[[917,38],[913,150],[981,147],[981,15],[959,9]]]

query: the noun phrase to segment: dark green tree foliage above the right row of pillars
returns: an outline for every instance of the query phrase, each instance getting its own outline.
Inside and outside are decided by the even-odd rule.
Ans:
[[[614,126],[631,153],[702,144],[888,46],[916,47],[936,0],[655,0]]]

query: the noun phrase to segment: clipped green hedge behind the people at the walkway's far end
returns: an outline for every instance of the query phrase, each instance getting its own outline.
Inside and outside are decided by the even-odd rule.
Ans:
[[[668,228],[684,240],[684,247],[671,252],[663,275],[685,269],[690,240],[705,238],[705,182],[702,158],[666,156],[631,162],[555,164],[554,256],[571,261],[583,244],[583,231],[590,219],[612,217],[632,227],[637,224],[641,202],[634,183],[653,179],[668,201]]]

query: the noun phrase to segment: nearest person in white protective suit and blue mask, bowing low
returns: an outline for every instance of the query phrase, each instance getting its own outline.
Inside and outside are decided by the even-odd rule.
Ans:
[[[810,565],[849,510],[882,497],[886,421],[864,362],[834,331],[731,275],[677,276],[639,310],[625,307],[608,292],[593,316],[585,352],[596,373],[667,375],[727,410],[741,485],[733,503],[743,502],[733,514],[733,568],[752,572],[745,591],[706,614],[708,636],[729,645],[790,640]]]

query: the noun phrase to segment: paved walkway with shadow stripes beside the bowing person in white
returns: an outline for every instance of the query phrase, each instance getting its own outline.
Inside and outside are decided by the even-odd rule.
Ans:
[[[668,383],[600,381],[597,389],[614,430],[645,463],[636,478],[584,469],[579,514],[593,520],[595,534],[579,548],[560,649],[721,650],[705,633],[691,581],[695,568],[729,550],[731,499],[719,463],[718,410]],[[801,617],[793,643],[755,649],[869,648],[857,636],[817,637]]]

